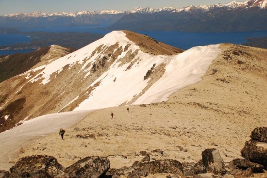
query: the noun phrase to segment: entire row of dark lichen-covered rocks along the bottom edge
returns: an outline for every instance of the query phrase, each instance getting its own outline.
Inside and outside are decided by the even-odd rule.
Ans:
[[[112,157],[85,157],[64,168],[52,156],[27,156],[21,158],[10,172],[0,171],[0,178],[266,178],[267,127],[254,129],[250,137],[241,150],[244,159],[232,160],[228,168],[216,148],[202,151],[202,159],[197,163],[150,159],[150,156],[164,154],[163,150],[155,149],[140,151],[135,155],[142,158],[140,161],[119,169],[110,168]],[[121,157],[127,159],[127,156]]]

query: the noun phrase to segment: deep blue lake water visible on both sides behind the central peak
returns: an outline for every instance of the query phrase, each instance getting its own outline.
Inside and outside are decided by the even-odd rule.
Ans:
[[[71,27],[71,28],[44,28],[34,29],[31,31],[46,32],[92,32],[98,34],[106,34],[110,31],[104,31],[99,28],[90,27]],[[190,49],[195,46],[205,46],[219,43],[242,44],[246,42],[248,37],[267,37],[265,32],[162,32],[162,31],[139,31],[138,33],[147,34],[157,41],[166,43],[170,46],[181,49]],[[0,34],[0,46],[11,45],[14,43],[27,43],[30,37],[21,34]],[[27,50],[20,51],[0,51],[0,55],[12,54],[15,52],[29,52]]]

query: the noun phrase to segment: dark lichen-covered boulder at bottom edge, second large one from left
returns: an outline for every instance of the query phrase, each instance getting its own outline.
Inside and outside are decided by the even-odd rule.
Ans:
[[[82,160],[67,167],[65,173],[70,178],[99,178],[105,175],[110,167],[106,157],[85,157]]]

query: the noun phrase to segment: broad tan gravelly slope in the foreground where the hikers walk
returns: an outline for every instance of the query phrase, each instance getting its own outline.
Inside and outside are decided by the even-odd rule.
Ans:
[[[51,134],[21,157],[52,155],[68,166],[85,156],[109,156],[111,167],[120,168],[140,160],[136,153],[142,150],[164,151],[151,159],[197,162],[201,151],[215,147],[225,162],[240,158],[252,129],[267,126],[267,49],[232,44],[220,48],[202,81],[167,102],[92,112],[66,129],[65,140]]]

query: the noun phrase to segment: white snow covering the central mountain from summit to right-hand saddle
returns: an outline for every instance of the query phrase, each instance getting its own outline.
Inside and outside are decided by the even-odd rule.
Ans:
[[[139,49],[139,47],[131,42],[124,32],[114,31],[106,34],[100,40],[55,60],[48,65],[33,69],[34,71],[42,71],[29,82],[38,81],[40,84],[46,84],[50,82],[50,75],[52,73],[57,72],[57,75],[60,75],[64,66],[68,65],[68,68],[70,69],[76,63],[82,64],[79,73],[83,71],[85,72],[85,77],[87,77],[90,72],[84,70],[85,66],[91,63],[91,66],[87,67],[92,68],[94,61],[99,56],[97,52],[94,56],[89,58],[91,53],[103,44],[104,45],[100,51],[104,51],[108,49],[109,46],[116,43],[123,49],[128,44],[131,46],[117,57],[115,63],[111,65],[105,73],[88,86],[88,88],[93,87],[95,83],[100,82],[100,86],[96,87],[88,98],[76,107],[74,111],[114,107],[125,102],[130,102],[133,99],[133,96],[139,95],[147,86],[149,79],[144,81],[144,76],[153,64],[156,64],[156,66],[162,63],[167,64],[166,73],[159,81],[154,83],[142,97],[137,99],[134,104],[167,100],[167,97],[169,97],[171,93],[200,81],[202,75],[204,75],[207,70],[207,67],[220,52],[218,45],[195,47],[181,54],[172,56],[152,56],[148,53],[139,51],[137,56],[135,56],[135,59],[139,60],[135,62],[132,68],[127,69],[130,63],[119,66],[119,59],[123,58],[130,49],[135,51],[136,49]],[[85,58],[87,61],[84,61]],[[27,76],[26,79],[29,78],[29,73],[31,73],[31,71],[23,74]],[[115,78],[116,81],[114,81]],[[127,83],[127,85],[125,83]],[[105,97],[102,97],[103,95]]]

